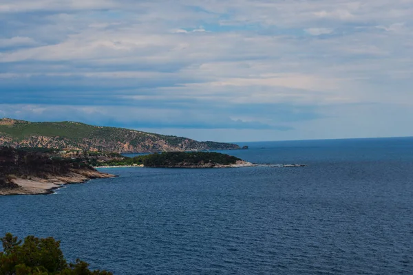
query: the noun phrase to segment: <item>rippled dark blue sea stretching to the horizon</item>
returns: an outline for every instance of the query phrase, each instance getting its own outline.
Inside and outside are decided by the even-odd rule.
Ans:
[[[0,234],[114,274],[413,274],[413,138],[245,144],[308,166],[101,169],[120,177],[0,197]]]

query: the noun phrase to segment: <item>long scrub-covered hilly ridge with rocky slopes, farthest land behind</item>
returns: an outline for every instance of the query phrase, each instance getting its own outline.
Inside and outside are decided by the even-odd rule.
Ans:
[[[0,119],[0,146],[109,153],[240,149],[237,144],[198,142],[186,137],[92,126],[80,122],[28,122],[11,118]]]

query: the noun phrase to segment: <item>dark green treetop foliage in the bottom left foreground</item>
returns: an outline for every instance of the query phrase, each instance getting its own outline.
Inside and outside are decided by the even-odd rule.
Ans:
[[[67,263],[60,241],[52,237],[27,236],[24,241],[10,233],[1,238],[0,275],[110,275],[107,271],[91,271],[84,261]]]

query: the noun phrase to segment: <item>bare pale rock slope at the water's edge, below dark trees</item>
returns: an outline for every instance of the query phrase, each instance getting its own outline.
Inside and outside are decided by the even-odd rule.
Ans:
[[[0,195],[45,195],[52,194],[54,190],[66,184],[81,184],[90,179],[103,179],[116,177],[116,175],[101,173],[90,169],[72,169],[65,175],[52,175],[47,178],[32,177],[12,179],[17,188],[0,188]]]

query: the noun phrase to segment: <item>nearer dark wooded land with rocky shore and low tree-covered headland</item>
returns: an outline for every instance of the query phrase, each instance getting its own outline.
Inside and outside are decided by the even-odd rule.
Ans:
[[[0,147],[0,195],[50,194],[65,184],[115,177],[95,167],[226,168],[255,166],[215,152],[169,152],[125,157],[117,153]]]

